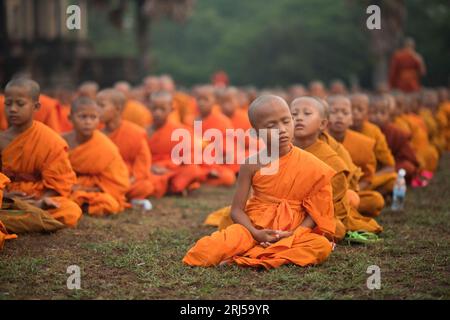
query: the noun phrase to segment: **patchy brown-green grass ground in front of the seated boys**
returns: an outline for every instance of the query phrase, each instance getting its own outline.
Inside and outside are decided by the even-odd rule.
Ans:
[[[204,188],[188,198],[153,201],[151,213],[84,217],[77,229],[23,235],[0,253],[0,299],[450,299],[450,155],[433,183],[410,190],[406,212],[385,211],[384,243],[338,245],[321,266],[257,271],[189,268],[186,250],[214,229],[207,213],[232,190]],[[69,265],[81,290],[69,290]],[[369,290],[367,267],[381,268]]]

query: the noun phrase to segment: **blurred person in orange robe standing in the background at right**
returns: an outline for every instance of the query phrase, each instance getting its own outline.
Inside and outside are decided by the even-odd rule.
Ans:
[[[389,69],[391,88],[404,92],[419,91],[420,77],[425,73],[425,63],[415,50],[414,40],[407,38],[403,48],[397,50],[392,56]]]

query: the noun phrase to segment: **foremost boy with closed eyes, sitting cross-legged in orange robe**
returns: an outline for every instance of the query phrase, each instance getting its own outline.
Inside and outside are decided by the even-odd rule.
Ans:
[[[257,156],[241,165],[231,207],[235,222],[200,239],[183,259],[191,266],[241,266],[276,268],[294,263],[322,263],[332,250],[335,221],[331,178],[335,172],[312,154],[291,143],[292,116],[287,103],[277,96],[257,98],[249,107],[252,126],[276,130],[271,141],[263,135],[269,154],[278,148],[277,170],[264,171]],[[272,167],[273,169],[273,167]],[[254,194],[248,199],[250,189]],[[247,202],[248,199],[248,202]]]

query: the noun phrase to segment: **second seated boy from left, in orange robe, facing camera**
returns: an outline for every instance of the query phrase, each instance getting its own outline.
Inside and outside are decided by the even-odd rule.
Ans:
[[[94,216],[117,214],[128,204],[125,195],[130,181],[125,162],[116,145],[96,128],[100,110],[94,100],[78,98],[72,103],[70,119],[74,131],[64,135],[69,159],[77,173],[71,198],[84,212]]]

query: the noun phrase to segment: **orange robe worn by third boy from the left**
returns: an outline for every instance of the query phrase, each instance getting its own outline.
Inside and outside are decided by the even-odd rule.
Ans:
[[[145,199],[152,195],[155,191],[150,172],[152,158],[145,130],[132,122],[122,120],[109,138],[119,148],[130,174],[131,186],[127,198]]]

